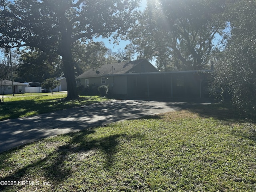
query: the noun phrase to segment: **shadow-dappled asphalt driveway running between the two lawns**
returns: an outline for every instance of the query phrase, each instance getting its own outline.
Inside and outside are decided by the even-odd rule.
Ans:
[[[184,102],[111,100],[62,111],[0,121],[0,152],[49,136],[178,110]]]

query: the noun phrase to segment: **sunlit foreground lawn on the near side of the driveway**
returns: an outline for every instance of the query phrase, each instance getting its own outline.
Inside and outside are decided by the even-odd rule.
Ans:
[[[0,191],[254,192],[256,124],[232,117],[207,105],[27,144],[0,154]]]

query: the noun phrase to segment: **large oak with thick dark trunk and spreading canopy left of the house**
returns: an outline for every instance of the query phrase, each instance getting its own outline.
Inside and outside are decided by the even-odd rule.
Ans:
[[[138,14],[139,0],[0,0],[0,46],[30,46],[60,55],[74,99],[76,81],[72,45],[102,35],[126,34]]]

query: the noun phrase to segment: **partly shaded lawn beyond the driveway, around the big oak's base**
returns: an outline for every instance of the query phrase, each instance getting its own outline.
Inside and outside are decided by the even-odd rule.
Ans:
[[[0,121],[6,119],[33,116],[57,110],[63,110],[82,105],[93,104],[107,100],[100,96],[80,96],[76,100],[64,100],[67,93],[26,93],[16,94],[4,98],[4,103],[0,105]]]

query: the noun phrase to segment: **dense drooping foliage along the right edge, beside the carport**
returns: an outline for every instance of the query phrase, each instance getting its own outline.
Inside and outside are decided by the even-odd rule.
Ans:
[[[255,112],[256,2],[242,0],[231,4],[227,17],[231,35],[219,56],[212,90],[222,99],[228,93],[241,112]]]

